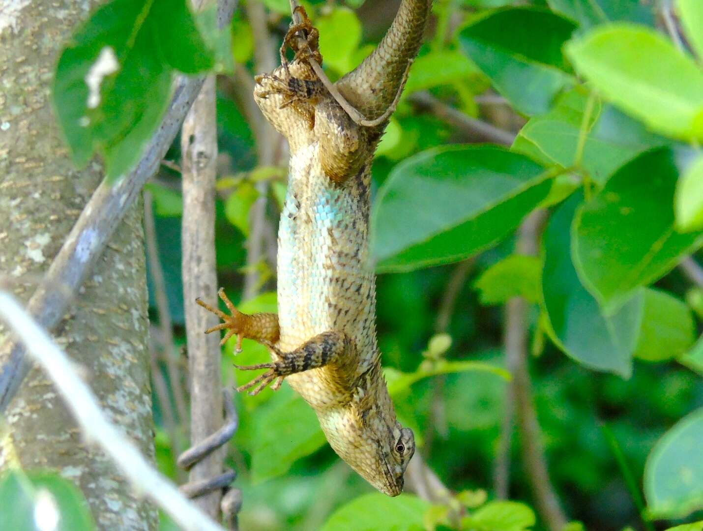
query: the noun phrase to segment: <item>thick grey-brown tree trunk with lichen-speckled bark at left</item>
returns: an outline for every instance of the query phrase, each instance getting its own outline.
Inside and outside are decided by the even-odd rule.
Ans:
[[[95,162],[82,171],[72,166],[50,99],[60,46],[89,15],[86,5],[4,0],[0,6],[0,284],[22,300],[32,295],[102,177]],[[153,456],[147,303],[137,205],[55,337],[86,371],[112,421]],[[0,328],[0,345],[6,335]],[[153,506],[131,492],[102,452],[84,444],[41,371],[32,369],[5,421],[0,468],[17,459],[22,468],[49,468],[74,480],[101,529],[155,529]]]

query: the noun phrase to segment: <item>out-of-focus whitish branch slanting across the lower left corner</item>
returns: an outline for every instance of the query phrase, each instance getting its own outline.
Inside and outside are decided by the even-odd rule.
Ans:
[[[122,430],[110,423],[98,407],[89,386],[77,376],[74,364],[39,326],[27,309],[12,295],[0,291],[0,316],[20,338],[26,351],[44,369],[72,411],[86,440],[98,444],[122,471],[136,492],[160,506],[186,530],[221,531],[222,527],[207,518],[193,502],[160,473],[125,437]]]

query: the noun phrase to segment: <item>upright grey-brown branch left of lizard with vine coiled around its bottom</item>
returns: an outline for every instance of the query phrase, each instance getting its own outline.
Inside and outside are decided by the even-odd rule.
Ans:
[[[217,115],[215,77],[209,75],[183,122],[183,300],[186,301],[186,338],[191,383],[191,444],[198,444],[222,425],[221,348],[217,337],[203,331],[218,322],[202,312],[196,298],[217,297],[215,267],[215,179],[217,178]],[[213,452],[195,463],[191,483],[221,475],[223,452]],[[196,503],[216,518],[221,492],[200,497]]]

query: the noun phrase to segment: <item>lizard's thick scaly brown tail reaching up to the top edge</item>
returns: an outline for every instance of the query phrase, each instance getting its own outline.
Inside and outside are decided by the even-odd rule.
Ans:
[[[422,44],[432,0],[401,0],[377,48],[337,83],[344,98],[369,119],[382,115],[403,89],[406,72]]]

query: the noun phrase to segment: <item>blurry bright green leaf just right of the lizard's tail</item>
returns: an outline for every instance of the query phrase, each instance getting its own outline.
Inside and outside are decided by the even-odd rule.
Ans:
[[[441,68],[437,68],[441,65]],[[469,58],[454,50],[431,51],[418,57],[408,76],[404,94],[440,87],[454,82],[465,82],[480,72]]]

